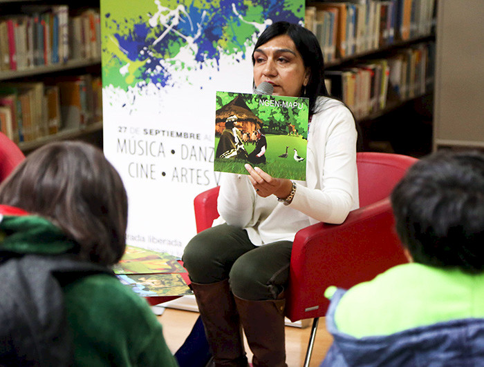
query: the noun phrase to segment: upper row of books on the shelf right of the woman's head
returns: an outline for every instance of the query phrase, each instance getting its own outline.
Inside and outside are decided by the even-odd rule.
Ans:
[[[306,7],[305,24],[326,61],[378,50],[431,34],[436,0],[321,1]]]

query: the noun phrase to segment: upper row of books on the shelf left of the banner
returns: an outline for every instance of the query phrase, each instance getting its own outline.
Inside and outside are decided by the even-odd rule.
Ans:
[[[24,5],[0,19],[0,70],[26,70],[100,57],[100,13],[66,5]]]

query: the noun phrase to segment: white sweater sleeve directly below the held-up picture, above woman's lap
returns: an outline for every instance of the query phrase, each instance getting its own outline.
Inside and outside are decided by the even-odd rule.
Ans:
[[[221,174],[217,209],[222,219],[231,226],[245,228],[254,213],[255,192],[247,175]]]

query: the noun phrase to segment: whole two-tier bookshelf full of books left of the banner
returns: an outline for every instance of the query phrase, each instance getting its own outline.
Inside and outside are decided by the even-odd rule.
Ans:
[[[0,1],[0,130],[28,154],[102,147],[99,1]]]

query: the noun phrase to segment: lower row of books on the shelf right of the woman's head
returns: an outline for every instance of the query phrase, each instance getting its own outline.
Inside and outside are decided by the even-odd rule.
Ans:
[[[326,71],[331,95],[341,99],[356,119],[424,95],[434,79],[435,43],[418,43],[387,59],[357,61],[352,68]]]

